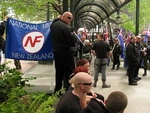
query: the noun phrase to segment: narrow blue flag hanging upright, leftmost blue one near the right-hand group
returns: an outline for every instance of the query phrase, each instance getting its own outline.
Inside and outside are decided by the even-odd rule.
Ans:
[[[121,46],[121,48],[122,48],[121,58],[124,58],[125,45],[124,45],[124,40],[123,40],[123,35],[122,35],[122,29],[120,29],[120,32],[119,32],[117,38],[119,39],[120,46]]]

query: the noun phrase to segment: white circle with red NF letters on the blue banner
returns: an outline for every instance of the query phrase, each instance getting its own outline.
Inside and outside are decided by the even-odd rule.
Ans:
[[[40,32],[31,32],[23,38],[23,48],[29,53],[38,52],[44,44],[44,35]]]

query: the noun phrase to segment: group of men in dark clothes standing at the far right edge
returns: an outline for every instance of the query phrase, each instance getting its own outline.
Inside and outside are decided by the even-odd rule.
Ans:
[[[143,42],[141,36],[130,37],[130,42],[126,44],[126,62],[127,62],[127,75],[129,85],[138,85],[137,82],[141,80],[138,76],[139,69],[143,68],[143,76],[147,75],[147,64],[149,59],[150,48],[148,46],[150,36],[148,36],[148,41]]]

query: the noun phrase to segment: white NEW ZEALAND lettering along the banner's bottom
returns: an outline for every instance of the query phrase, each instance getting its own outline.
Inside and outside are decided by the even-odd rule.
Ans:
[[[24,59],[27,58],[28,60],[41,60],[41,59],[52,59],[53,53],[50,52],[48,54],[20,54],[20,53],[12,53],[12,58]]]

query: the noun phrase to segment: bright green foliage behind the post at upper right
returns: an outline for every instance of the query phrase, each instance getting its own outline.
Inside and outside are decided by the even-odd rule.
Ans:
[[[139,14],[139,31],[148,29],[150,26],[150,1],[149,0],[140,0],[140,14]],[[122,18],[130,19],[131,21],[122,24],[122,27],[125,29],[135,32],[135,20],[136,20],[136,0],[132,0],[129,4],[122,8]]]

